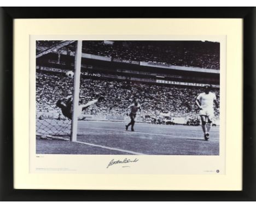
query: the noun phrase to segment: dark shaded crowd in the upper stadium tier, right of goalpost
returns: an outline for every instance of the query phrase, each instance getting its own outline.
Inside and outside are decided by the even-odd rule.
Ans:
[[[219,44],[201,41],[84,41],[83,52],[117,59],[219,70]]]

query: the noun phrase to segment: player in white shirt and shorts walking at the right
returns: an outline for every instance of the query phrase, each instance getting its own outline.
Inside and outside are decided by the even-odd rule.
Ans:
[[[200,93],[196,97],[196,105],[200,108],[200,117],[202,121],[202,130],[205,140],[210,138],[210,129],[212,127],[212,120],[214,118],[213,103],[216,108],[219,108],[219,103],[217,102],[216,95],[211,91],[211,85],[205,86],[205,92]],[[207,120],[207,123],[206,123]]]

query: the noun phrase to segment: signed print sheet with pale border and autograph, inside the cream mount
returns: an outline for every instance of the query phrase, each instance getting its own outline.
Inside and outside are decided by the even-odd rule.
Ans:
[[[30,36],[31,173],[225,174],[224,36],[70,38]]]

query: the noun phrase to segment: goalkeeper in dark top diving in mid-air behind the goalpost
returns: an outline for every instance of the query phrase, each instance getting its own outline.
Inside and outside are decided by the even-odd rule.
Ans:
[[[92,100],[85,105],[79,105],[78,106],[78,120],[84,120],[86,117],[82,114],[82,112],[89,108],[91,105],[93,105],[96,102],[101,102],[104,100],[104,97],[101,95],[96,100]],[[56,106],[61,108],[62,114],[67,117],[68,119],[72,120],[72,106],[73,106],[73,96],[69,95],[67,97],[64,97],[63,99],[60,99],[57,101]]]

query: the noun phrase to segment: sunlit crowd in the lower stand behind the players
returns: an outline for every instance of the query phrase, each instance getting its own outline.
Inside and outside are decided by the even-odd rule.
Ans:
[[[50,74],[37,72],[36,74],[36,99],[37,112],[60,113],[56,108],[56,101],[70,94],[73,90],[73,79],[65,74]],[[127,115],[127,108],[134,99],[138,99],[142,106],[142,115],[158,116],[160,113],[171,111],[172,117],[194,118],[198,116],[195,107],[195,97],[201,93],[200,88],[187,88],[178,85],[156,85],[150,83],[89,79],[82,77],[80,80],[80,104],[104,95],[105,102],[96,103],[84,111],[84,114],[110,114]],[[214,91],[217,98],[219,90]],[[219,117],[216,112],[217,118]]]

